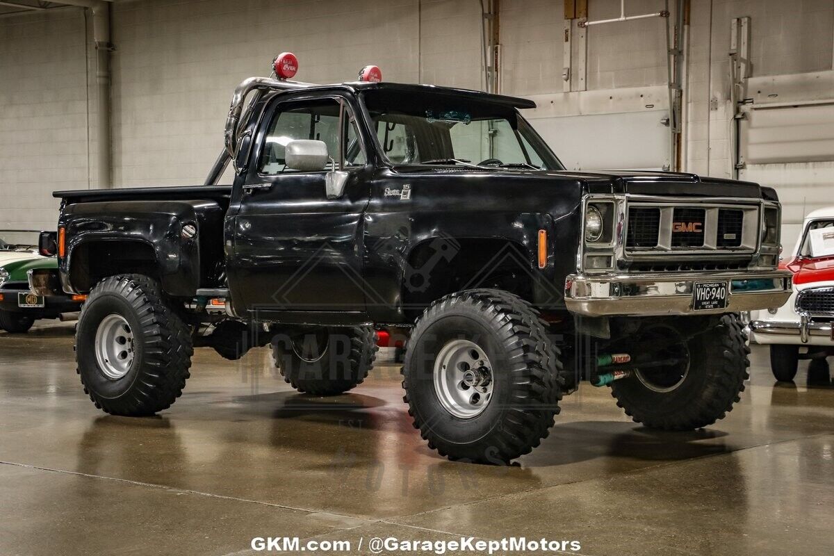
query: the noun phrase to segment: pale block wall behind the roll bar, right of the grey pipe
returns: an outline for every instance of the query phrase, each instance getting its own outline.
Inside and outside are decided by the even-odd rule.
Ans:
[[[283,50],[299,57],[301,81],[354,80],[372,61],[388,80],[416,80],[416,16],[411,0],[115,4],[115,187],[202,183],[234,87],[269,75]]]

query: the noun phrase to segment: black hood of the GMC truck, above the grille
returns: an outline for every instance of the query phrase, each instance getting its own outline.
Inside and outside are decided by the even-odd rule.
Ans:
[[[635,195],[674,195],[676,197],[736,197],[776,200],[771,188],[757,183],[721,178],[701,178],[694,173],[651,172],[639,170],[600,170],[575,172],[568,170],[530,170],[525,168],[473,168],[451,165],[414,164],[394,168],[396,173],[469,174],[500,176],[501,182],[520,183],[524,177],[545,178],[551,182],[585,183],[588,193],[631,193]]]

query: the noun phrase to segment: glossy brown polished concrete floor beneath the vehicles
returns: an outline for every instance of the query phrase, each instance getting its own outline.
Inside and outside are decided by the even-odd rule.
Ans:
[[[71,327],[0,333],[0,554],[249,554],[269,536],[369,553],[372,537],[460,535],[586,555],[834,553],[834,389],[809,385],[806,363],[785,385],[766,350],[752,360],[711,428],[651,432],[584,388],[540,448],[494,468],[425,447],[390,362],[308,398],[266,349],[229,363],[201,348],[172,408],[119,418],[84,395]]]

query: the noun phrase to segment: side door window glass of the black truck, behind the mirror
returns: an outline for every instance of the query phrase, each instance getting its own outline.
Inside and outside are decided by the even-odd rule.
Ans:
[[[344,165],[350,167],[364,166],[364,152],[359,143],[356,123],[345,110]],[[339,156],[339,103],[332,98],[303,103],[288,103],[279,107],[269,124],[267,136],[259,161],[259,172],[266,175],[298,172],[287,168],[285,149],[290,141],[296,139],[315,139],[324,141],[331,158]]]

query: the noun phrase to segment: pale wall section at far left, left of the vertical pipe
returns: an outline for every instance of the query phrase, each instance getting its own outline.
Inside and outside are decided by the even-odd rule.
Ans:
[[[0,19],[0,229],[55,228],[53,190],[88,187],[84,41],[81,10]]]

